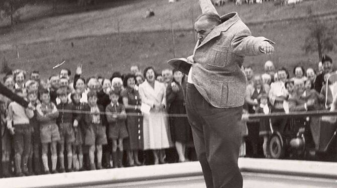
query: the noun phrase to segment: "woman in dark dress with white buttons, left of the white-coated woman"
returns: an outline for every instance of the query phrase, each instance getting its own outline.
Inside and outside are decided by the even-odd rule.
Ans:
[[[140,112],[140,97],[135,89],[136,78],[133,74],[124,77],[124,89],[121,92],[123,105],[127,113],[127,129],[129,132],[130,151],[133,154],[134,164],[139,166],[138,150],[143,149],[143,117]]]

